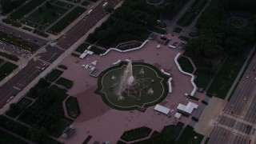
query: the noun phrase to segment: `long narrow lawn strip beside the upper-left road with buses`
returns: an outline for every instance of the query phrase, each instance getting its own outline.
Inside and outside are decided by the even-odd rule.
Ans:
[[[51,26],[47,32],[51,34],[59,34],[62,30],[69,26],[75,19],[77,19],[82,13],[86,11],[85,8],[77,6],[74,10],[70,11],[69,14],[66,14],[65,17],[60,19],[54,26]]]

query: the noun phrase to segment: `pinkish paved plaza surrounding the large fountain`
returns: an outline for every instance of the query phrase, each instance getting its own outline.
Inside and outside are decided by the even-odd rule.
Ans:
[[[167,38],[169,37],[172,36],[167,35]],[[150,41],[146,43],[141,50],[127,53],[111,50],[102,57],[93,54],[84,59],[79,59],[69,55],[63,59],[60,64],[68,66],[68,69],[64,71],[62,77],[68,78],[74,82],[74,86],[68,91],[68,94],[78,98],[81,114],[73,123],[73,125],[76,126],[76,133],[71,138],[59,138],[59,140],[65,143],[82,143],[88,135],[91,135],[93,138],[90,140],[90,143],[94,141],[116,143],[124,131],[140,126],[147,126],[152,130],[160,132],[163,126],[175,124],[178,121],[184,122],[185,124],[190,123],[191,116],[189,118],[182,117],[179,120],[175,120],[174,118],[178,103],[186,105],[188,99],[184,94],[190,94],[194,88],[190,83],[191,77],[182,74],[174,62],[175,56],[178,53],[182,53],[182,50],[170,49],[168,45],[161,45],[161,47],[157,49],[157,46],[157,41]],[[156,114],[154,106],[147,108],[144,113],[138,110],[113,110],[102,102],[102,98],[99,95],[94,94],[94,90],[97,89],[97,78],[91,77],[90,70],[86,70],[82,65],[91,65],[91,62],[96,60],[98,61],[97,69],[105,70],[119,59],[130,59],[132,61],[150,63],[171,74],[173,78],[172,93],[161,102],[162,106],[174,110],[171,112],[170,118],[164,114]],[[202,94],[196,93],[195,95],[200,98],[200,100],[203,99]],[[200,102],[191,99],[190,101],[198,105],[200,104]]]

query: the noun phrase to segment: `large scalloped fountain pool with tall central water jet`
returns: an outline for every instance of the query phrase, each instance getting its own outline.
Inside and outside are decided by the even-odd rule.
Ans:
[[[101,75],[95,93],[118,110],[155,105],[168,93],[168,77],[144,62],[121,62],[104,70]]]

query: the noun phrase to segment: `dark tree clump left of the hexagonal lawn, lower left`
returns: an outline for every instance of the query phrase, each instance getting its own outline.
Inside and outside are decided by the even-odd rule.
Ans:
[[[20,114],[18,120],[30,126],[36,124],[38,127],[44,127],[51,135],[59,137],[72,122],[65,117],[62,107],[62,101],[66,97],[66,90],[58,86],[46,87],[36,101]]]

